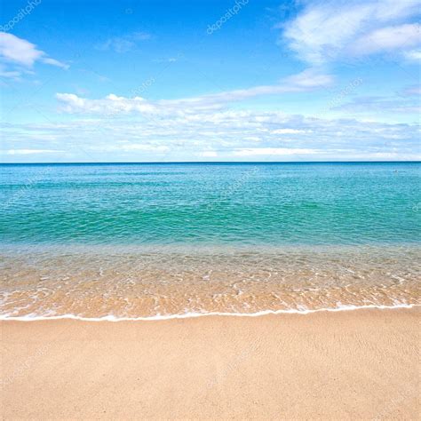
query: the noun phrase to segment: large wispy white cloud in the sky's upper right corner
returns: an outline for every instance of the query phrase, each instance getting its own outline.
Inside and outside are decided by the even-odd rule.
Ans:
[[[307,2],[282,26],[283,36],[301,59],[313,64],[398,51],[420,42],[419,25],[402,22],[416,17],[419,5],[419,0]]]

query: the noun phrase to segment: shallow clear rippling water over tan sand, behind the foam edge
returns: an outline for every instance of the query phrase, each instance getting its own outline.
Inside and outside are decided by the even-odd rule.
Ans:
[[[420,247],[185,251],[2,254],[0,318],[154,320],[421,304]]]

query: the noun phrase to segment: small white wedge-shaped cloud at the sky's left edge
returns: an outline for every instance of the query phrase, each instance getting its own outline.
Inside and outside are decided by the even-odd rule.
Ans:
[[[32,68],[36,62],[68,68],[67,64],[52,59],[45,52],[38,50],[36,44],[6,32],[0,32],[0,60],[14,67],[18,66],[3,71],[5,77],[18,77],[21,75],[19,67]]]

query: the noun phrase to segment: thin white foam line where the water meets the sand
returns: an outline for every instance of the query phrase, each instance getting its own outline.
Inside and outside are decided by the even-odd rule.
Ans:
[[[163,321],[172,319],[189,319],[194,317],[204,316],[236,316],[236,317],[258,317],[267,314],[313,314],[321,312],[343,312],[351,310],[363,310],[369,308],[377,308],[381,310],[385,309],[398,309],[398,308],[413,308],[421,306],[421,304],[399,304],[395,306],[340,306],[334,308],[319,308],[317,310],[262,310],[256,313],[186,313],[186,314],[170,314],[170,315],[155,315],[148,317],[115,317],[114,315],[106,315],[102,317],[81,317],[75,314],[63,314],[57,316],[0,316],[0,321],[20,321],[20,322],[36,322],[41,320],[61,320],[61,319],[73,319],[80,320],[83,322],[136,322],[136,321]]]

